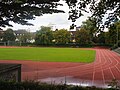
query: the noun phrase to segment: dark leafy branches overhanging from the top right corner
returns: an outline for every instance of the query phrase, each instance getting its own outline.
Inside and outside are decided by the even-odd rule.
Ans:
[[[119,0],[66,0],[66,2],[71,9],[69,19],[72,21],[83,16],[83,12],[91,12],[91,17],[96,18],[97,26],[104,28],[120,18]]]

